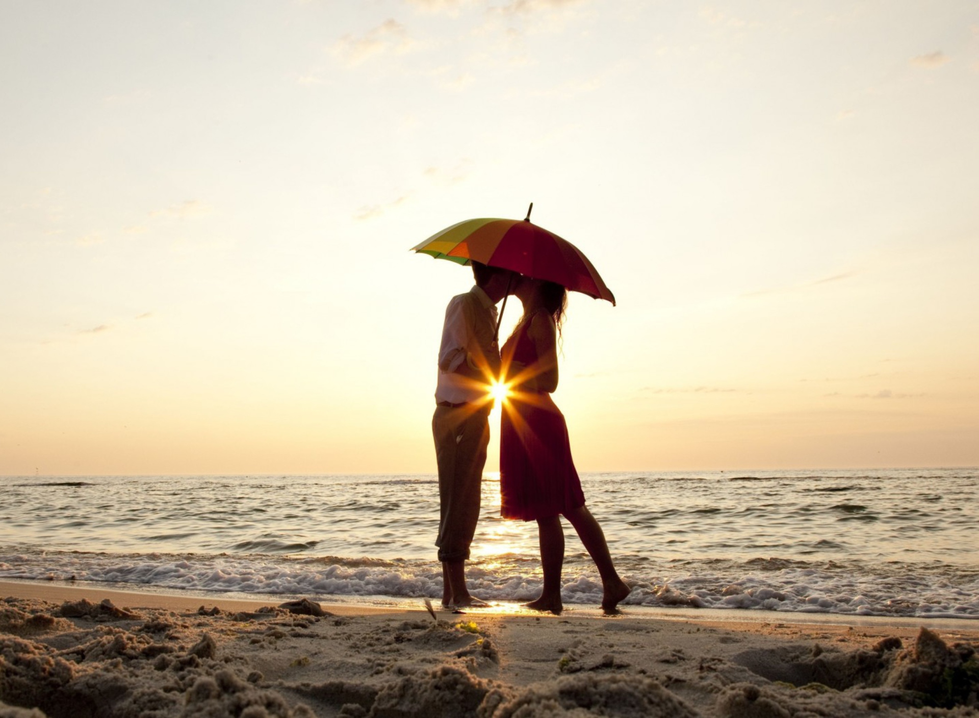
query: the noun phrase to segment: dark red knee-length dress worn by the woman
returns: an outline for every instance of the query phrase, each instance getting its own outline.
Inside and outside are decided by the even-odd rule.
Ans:
[[[530,323],[524,322],[503,345],[503,366],[518,361],[533,370],[537,355],[527,334]],[[550,394],[516,389],[503,405],[499,436],[503,518],[530,521],[584,505],[568,425]]]

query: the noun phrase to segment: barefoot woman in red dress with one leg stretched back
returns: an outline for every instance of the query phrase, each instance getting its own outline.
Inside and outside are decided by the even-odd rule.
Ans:
[[[500,428],[500,493],[504,518],[537,522],[544,585],[540,598],[527,606],[552,613],[563,609],[564,516],[598,567],[602,610],[616,613],[629,587],[615,570],[601,526],[584,505],[564,415],[550,397],[557,389],[557,335],[568,292],[560,284],[521,276],[513,293],[524,315],[500,353],[511,385]]]

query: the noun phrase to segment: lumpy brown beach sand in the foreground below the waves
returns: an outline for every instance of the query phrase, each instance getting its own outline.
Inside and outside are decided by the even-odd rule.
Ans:
[[[979,716],[979,630],[0,596],[0,718]]]

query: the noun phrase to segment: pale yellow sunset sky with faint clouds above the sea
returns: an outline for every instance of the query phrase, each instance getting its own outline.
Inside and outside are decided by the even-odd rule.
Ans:
[[[409,249],[530,202],[580,470],[979,465],[979,2],[0,18],[0,474],[434,473]]]

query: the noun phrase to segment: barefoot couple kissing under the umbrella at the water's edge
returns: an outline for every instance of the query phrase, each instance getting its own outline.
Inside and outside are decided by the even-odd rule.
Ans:
[[[443,606],[489,604],[469,594],[465,562],[480,513],[489,445],[489,382],[510,387],[500,426],[500,494],[504,518],[537,522],[543,587],[529,608],[560,613],[566,518],[602,580],[602,609],[618,612],[629,596],[601,526],[585,506],[557,389],[557,340],[568,291],[555,282],[472,262],[475,286],[445,310],[436,409],[432,418],[439,467],[440,523],[436,546],[443,568]],[[524,313],[502,349],[496,303],[512,294]]]

